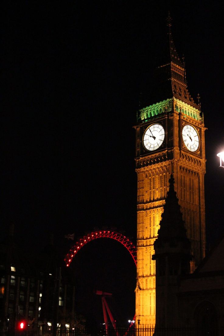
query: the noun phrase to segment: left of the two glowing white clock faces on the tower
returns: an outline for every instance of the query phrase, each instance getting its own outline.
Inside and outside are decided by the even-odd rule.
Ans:
[[[143,144],[148,151],[158,149],[164,140],[165,131],[162,125],[153,124],[149,126],[143,135]]]

